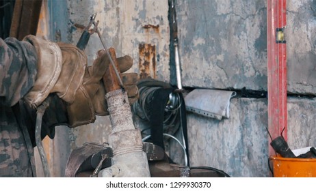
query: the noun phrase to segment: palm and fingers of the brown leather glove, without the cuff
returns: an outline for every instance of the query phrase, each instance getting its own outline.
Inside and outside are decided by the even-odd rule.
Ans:
[[[111,63],[104,52],[99,50],[98,58],[86,68],[83,83],[75,95],[75,100],[67,106],[70,127],[92,123],[95,120],[95,115],[109,115],[105,100],[107,92],[105,92],[104,83],[106,82],[103,82],[102,78]],[[126,72],[133,65],[133,59],[129,56],[119,57],[117,61],[121,73]],[[137,80],[137,73],[122,74],[122,82],[127,90],[130,104],[139,98]]]

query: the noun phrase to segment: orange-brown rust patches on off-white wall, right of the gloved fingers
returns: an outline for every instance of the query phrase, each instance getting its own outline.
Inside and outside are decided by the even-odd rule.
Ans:
[[[147,29],[148,27],[151,28],[151,25],[146,26]],[[138,48],[140,50],[140,78],[156,78],[156,46],[140,44]]]

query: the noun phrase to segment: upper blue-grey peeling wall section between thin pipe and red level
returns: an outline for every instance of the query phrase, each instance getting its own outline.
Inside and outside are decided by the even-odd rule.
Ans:
[[[184,86],[267,89],[266,1],[178,2]]]

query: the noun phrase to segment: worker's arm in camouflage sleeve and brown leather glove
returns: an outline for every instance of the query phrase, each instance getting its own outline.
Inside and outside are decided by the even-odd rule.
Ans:
[[[35,36],[10,41],[1,40],[1,104],[13,105],[22,99],[21,110],[29,127],[34,127],[36,108],[48,95],[54,97],[44,113],[42,132],[51,138],[55,126],[81,126],[94,122],[95,115],[108,115],[102,81],[109,65],[107,55],[99,54],[88,67],[85,53],[71,44]],[[118,63],[121,72],[133,65],[131,57],[120,57]],[[122,80],[130,103],[135,102],[137,74],[123,74]]]

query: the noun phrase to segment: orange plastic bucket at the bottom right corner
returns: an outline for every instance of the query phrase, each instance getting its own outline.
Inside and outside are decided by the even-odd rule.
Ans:
[[[274,177],[316,177],[316,158],[270,156]]]

